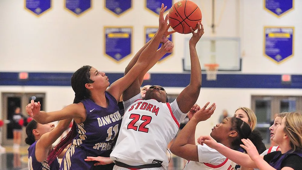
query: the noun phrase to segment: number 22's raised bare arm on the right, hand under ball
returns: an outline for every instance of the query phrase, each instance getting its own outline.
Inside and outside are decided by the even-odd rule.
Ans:
[[[187,113],[198,99],[201,88],[201,66],[196,52],[196,44],[204,34],[204,27],[198,23],[198,31],[195,33],[192,28],[192,37],[189,41],[191,59],[190,84],[179,94],[177,103],[182,113]]]

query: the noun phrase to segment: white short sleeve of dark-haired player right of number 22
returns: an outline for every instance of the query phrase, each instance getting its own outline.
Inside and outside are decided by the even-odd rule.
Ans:
[[[226,157],[217,150],[210,148],[206,144],[198,145],[198,161],[201,163],[210,163],[212,165],[219,165],[226,160]]]

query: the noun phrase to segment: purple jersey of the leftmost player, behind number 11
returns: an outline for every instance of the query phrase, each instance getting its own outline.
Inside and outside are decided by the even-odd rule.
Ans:
[[[36,159],[36,144],[37,141],[34,142],[31,146],[28,148],[28,169],[30,170],[58,170],[60,168],[59,160],[55,159],[50,165],[45,160],[44,162],[38,162]]]

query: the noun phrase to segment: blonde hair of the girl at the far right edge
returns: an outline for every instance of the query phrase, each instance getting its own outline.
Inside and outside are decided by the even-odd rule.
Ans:
[[[302,114],[290,112],[285,116],[284,132],[290,140],[291,148],[296,150],[302,149]]]

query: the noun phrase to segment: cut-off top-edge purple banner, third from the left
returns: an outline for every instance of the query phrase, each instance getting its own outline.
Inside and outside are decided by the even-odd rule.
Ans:
[[[132,8],[132,0],[105,0],[105,9],[116,15],[123,14]]]

